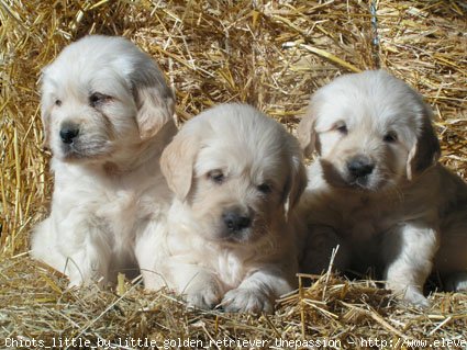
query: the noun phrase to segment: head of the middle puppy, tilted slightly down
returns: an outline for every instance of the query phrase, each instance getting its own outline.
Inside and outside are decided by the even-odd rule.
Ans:
[[[307,183],[297,140],[243,104],[219,105],[187,122],[160,166],[198,232],[225,244],[267,235]]]

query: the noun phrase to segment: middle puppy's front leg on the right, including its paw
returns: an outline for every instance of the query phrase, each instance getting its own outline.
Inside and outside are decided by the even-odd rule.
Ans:
[[[290,280],[290,273],[280,267],[263,267],[229,291],[221,304],[229,313],[273,314],[275,301],[293,290]]]

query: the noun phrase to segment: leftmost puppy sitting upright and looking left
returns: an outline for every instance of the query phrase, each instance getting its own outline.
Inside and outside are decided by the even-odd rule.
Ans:
[[[43,70],[55,188],[32,256],[70,285],[137,271],[135,239],[170,203],[159,157],[176,134],[174,101],[154,60],[123,37],[86,36]]]

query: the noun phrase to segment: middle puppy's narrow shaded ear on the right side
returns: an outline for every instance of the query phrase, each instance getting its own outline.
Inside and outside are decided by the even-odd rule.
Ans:
[[[291,157],[290,173],[285,190],[283,206],[286,216],[288,216],[290,211],[299,202],[301,194],[307,188],[307,169],[303,165],[303,159],[301,156],[293,155]]]

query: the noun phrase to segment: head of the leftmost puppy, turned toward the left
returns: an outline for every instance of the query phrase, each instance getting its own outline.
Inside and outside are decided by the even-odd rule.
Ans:
[[[103,161],[148,140],[173,117],[154,60],[123,37],[86,36],[44,68],[45,146],[65,161]]]

